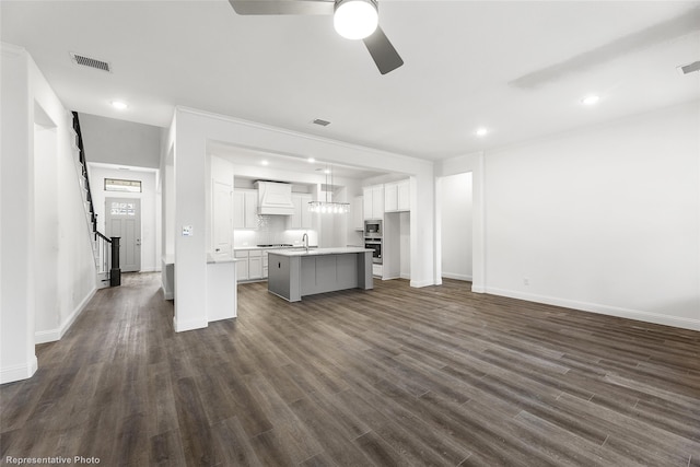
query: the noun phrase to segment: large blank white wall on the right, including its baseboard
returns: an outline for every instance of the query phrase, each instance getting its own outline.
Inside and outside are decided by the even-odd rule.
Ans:
[[[487,153],[487,291],[700,329],[699,129],[693,102]]]

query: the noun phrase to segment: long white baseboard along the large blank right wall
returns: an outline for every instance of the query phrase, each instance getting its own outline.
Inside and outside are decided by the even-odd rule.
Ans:
[[[600,305],[597,303],[579,302],[575,300],[559,299],[556,296],[538,295],[520,291],[486,288],[486,293],[493,295],[510,296],[512,299],[526,300],[528,302],[545,303],[548,305],[563,306],[588,313],[617,316],[620,318],[635,319],[638,322],[653,323],[664,326],[673,326],[690,330],[700,330],[700,319],[684,318],[680,316],[668,316],[658,313],[642,312],[640,310],[622,308],[618,306]]]

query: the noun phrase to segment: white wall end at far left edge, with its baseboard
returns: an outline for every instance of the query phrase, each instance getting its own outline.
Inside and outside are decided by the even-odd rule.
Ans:
[[[28,61],[2,45],[0,143],[0,383],[25,380],[34,352],[34,156]]]

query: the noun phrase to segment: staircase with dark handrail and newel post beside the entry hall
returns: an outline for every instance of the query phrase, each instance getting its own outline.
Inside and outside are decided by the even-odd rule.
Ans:
[[[97,213],[92,202],[92,191],[90,190],[90,176],[88,174],[88,163],[85,161],[85,150],[83,137],[80,131],[80,120],[78,113],[72,113],[73,119],[73,150],[77,154],[75,170],[80,174],[80,188],[85,210],[85,218],[90,229],[92,253],[95,260],[95,272],[97,275],[97,288],[116,287],[121,284],[121,269],[119,268],[119,237],[107,237],[97,230]]]

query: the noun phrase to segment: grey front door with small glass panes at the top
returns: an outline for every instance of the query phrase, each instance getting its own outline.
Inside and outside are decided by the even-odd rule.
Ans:
[[[118,236],[121,272],[141,269],[141,200],[133,198],[105,199],[105,231],[108,237]]]

